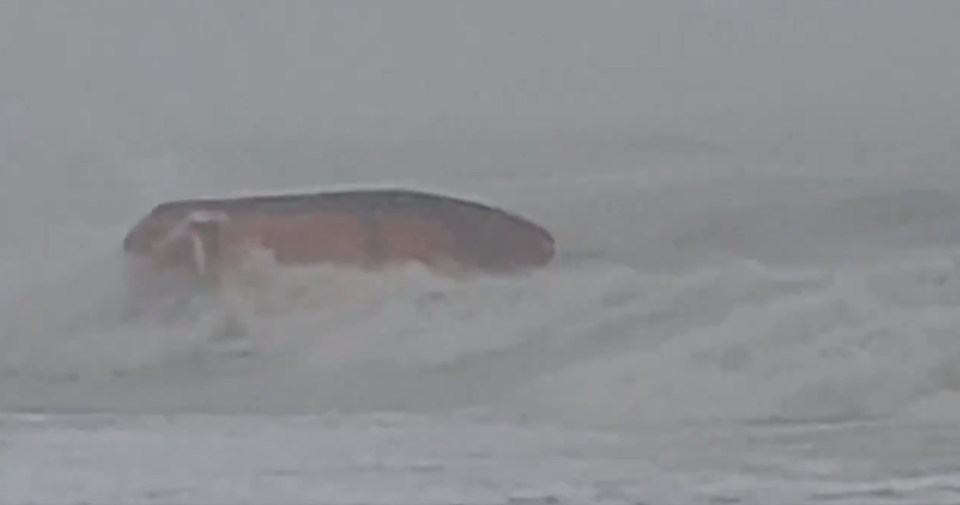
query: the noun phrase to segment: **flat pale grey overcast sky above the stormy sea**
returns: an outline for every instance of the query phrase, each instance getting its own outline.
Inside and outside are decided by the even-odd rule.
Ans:
[[[0,132],[945,143],[960,2],[0,3]],[[185,140],[186,139],[186,140]]]

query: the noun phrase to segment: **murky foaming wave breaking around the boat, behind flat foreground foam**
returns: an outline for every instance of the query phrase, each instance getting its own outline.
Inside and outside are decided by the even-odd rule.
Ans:
[[[552,201],[532,186],[502,193],[565,246],[543,271],[457,279],[265,263],[222,296],[136,314],[114,249],[122,227],[88,230],[97,245],[65,272],[7,290],[0,408],[442,412],[608,428],[960,417],[952,193],[593,184]]]

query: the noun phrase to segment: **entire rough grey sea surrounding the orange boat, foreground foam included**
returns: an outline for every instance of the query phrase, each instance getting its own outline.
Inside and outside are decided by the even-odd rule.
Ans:
[[[751,163],[4,187],[0,503],[956,503],[958,179]],[[387,179],[541,222],[558,260],[266,262],[131,311],[119,241],[157,201]]]

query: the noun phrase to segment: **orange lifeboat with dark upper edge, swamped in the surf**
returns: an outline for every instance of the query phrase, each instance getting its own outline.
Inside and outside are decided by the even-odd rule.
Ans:
[[[361,189],[165,202],[123,239],[154,270],[216,278],[250,250],[278,266],[382,269],[419,263],[514,273],[549,264],[554,238],[502,209],[407,189]]]

